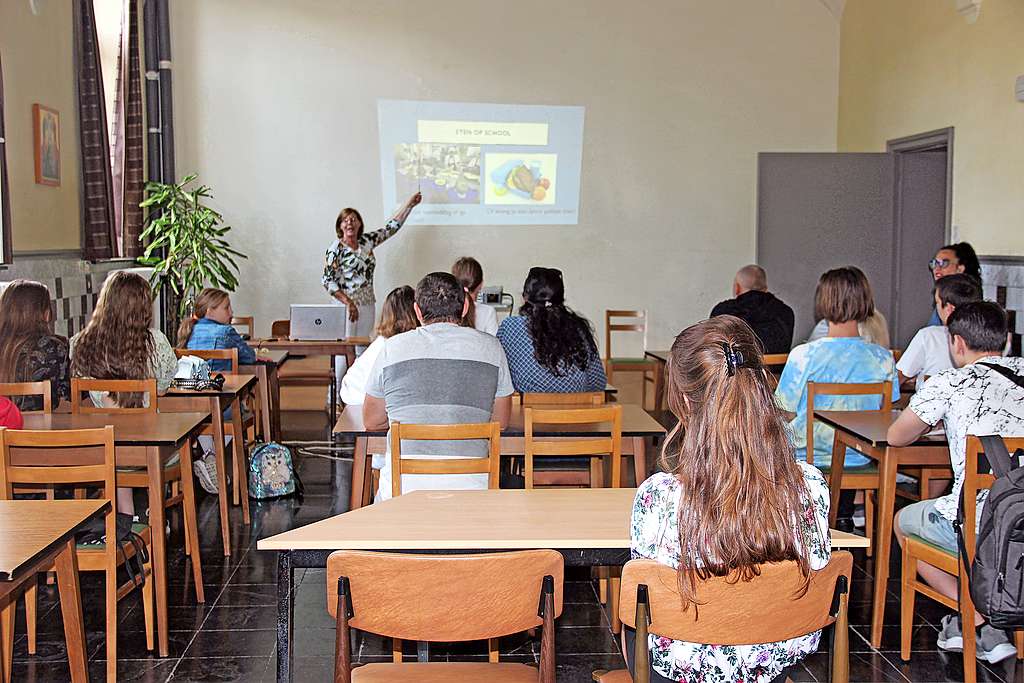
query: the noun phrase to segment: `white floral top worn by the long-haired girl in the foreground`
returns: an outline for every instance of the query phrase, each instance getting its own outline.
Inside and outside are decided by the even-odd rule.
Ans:
[[[813,539],[808,548],[811,569],[820,569],[831,557],[828,533],[828,484],[821,472],[799,463],[810,499],[800,525]],[[679,566],[679,497],[682,484],[674,475],[658,472],[640,484],[630,521],[634,558]],[[805,537],[804,533],[800,535]],[[764,683],[818,649],[820,631],[777,643],[760,645],[701,645],[650,634],[651,661],[662,676],[673,681],[700,683]]]

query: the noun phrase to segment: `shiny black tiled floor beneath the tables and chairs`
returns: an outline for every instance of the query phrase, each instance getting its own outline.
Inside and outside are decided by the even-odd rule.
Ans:
[[[324,438],[310,431],[312,416],[286,414],[285,428],[290,438]],[[274,680],[275,559],[256,550],[256,540],[264,536],[306,524],[343,512],[348,501],[348,461],[332,463],[318,458],[298,461],[306,486],[304,500],[254,503],[249,527],[232,509],[234,552],[224,558],[220,552],[220,532],[216,500],[202,501],[200,535],[207,602],[197,605],[190,585],[190,569],[181,552],[181,535],[173,520],[170,547],[170,647],[171,656],[160,658],[145,650],[142,614],[138,598],[130,596],[121,604],[119,679],[122,681],[258,681]],[[939,618],[945,610],[919,598],[913,656],[904,664],[899,658],[898,584],[889,587],[888,623],[882,651],[867,644],[870,622],[871,562],[862,551],[855,553],[855,577],[851,600],[852,681],[963,681],[958,654],[949,655],[935,646]],[[899,575],[898,554],[894,553],[893,575]],[[595,669],[621,668],[615,640],[608,631],[594,585],[587,575],[570,571],[565,586],[565,608],[558,623],[559,681],[589,681]],[[296,597],[295,680],[331,680],[333,671],[333,623],[325,607],[323,571],[305,570]],[[96,577],[82,580],[86,628],[90,648],[90,677],[102,681],[103,589]],[[66,681],[69,678],[61,631],[60,612],[55,603],[55,589],[42,587],[39,620],[39,647],[36,655],[26,651],[25,623],[18,614],[14,652],[15,681]],[[822,650],[826,647],[823,642]],[[536,661],[537,641],[524,635],[504,639],[503,658]],[[409,650],[410,658],[414,650]],[[358,641],[357,659],[380,660],[390,656],[390,644],[381,638],[366,636]],[[477,658],[486,656],[482,643],[432,645],[431,657],[437,659]],[[828,653],[818,652],[805,660],[797,672],[798,681],[827,680]],[[997,666],[980,665],[979,680],[1022,681],[1024,666],[1014,659]]]

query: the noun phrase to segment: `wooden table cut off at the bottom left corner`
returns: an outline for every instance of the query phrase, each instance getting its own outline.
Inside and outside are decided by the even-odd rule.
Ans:
[[[93,515],[105,512],[111,503],[100,501],[0,501],[0,641],[3,631],[14,627],[14,594],[36,574],[55,566],[60,591],[60,614],[71,680],[88,681],[88,655],[82,621],[82,598],[78,585],[75,530]],[[0,661],[0,680],[10,672],[11,652]]]

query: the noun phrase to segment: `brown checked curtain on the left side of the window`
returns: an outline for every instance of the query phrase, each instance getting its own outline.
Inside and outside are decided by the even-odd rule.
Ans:
[[[92,0],[75,2],[75,59],[82,150],[82,255],[87,260],[95,261],[114,257],[117,234],[106,103]]]

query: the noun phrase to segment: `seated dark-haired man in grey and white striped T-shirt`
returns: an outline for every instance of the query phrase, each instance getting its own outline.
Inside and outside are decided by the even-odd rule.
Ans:
[[[512,411],[512,377],[501,342],[462,327],[469,300],[450,272],[431,272],[416,286],[422,327],[390,337],[377,356],[362,421],[367,429],[402,424],[499,422]],[[486,441],[410,441],[413,455],[480,458]],[[381,470],[377,501],[391,498],[391,442]],[[402,457],[407,457],[403,451]],[[406,474],[403,494],[417,489],[486,488],[486,474]]]

